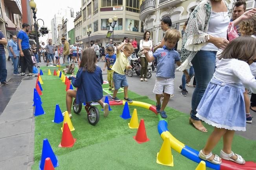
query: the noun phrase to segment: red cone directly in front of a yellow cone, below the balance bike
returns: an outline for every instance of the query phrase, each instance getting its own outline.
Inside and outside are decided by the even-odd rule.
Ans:
[[[68,123],[64,123],[63,133],[61,143],[59,147],[71,148],[76,142],[76,139],[73,138],[72,133],[68,127]]]

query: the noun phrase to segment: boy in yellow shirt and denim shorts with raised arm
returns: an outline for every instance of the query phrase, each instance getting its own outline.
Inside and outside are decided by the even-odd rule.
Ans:
[[[123,52],[120,51],[120,49],[122,48],[123,48]],[[116,48],[116,62],[112,66],[112,70],[114,71],[113,80],[115,84],[115,90],[114,90],[112,100],[116,102],[120,102],[120,99],[116,97],[116,94],[121,87],[124,87],[123,99],[130,103],[133,102],[133,100],[128,98],[128,83],[127,83],[125,72],[124,72],[125,69],[128,70],[132,68],[132,66],[129,63],[128,57],[133,53],[133,51],[134,51],[134,48],[132,44],[129,44],[125,41]]]

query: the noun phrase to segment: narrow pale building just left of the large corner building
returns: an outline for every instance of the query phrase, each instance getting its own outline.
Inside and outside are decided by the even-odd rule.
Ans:
[[[82,12],[81,10],[76,13],[76,18],[74,20],[74,30],[75,30],[75,37],[76,37],[76,44],[79,44],[83,48],[82,39]]]

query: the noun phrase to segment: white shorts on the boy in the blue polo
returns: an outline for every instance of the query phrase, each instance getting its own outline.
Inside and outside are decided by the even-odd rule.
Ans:
[[[156,77],[156,83],[155,83],[153,93],[160,95],[164,92],[169,95],[173,95],[173,90],[174,90],[173,78],[165,79],[162,77]]]

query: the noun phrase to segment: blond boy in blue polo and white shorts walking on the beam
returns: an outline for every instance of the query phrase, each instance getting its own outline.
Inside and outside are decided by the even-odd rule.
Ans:
[[[157,75],[153,93],[156,94],[157,113],[160,113],[161,117],[164,119],[167,118],[164,109],[169,102],[170,96],[173,95],[175,63],[180,66],[179,53],[173,49],[180,38],[181,35],[179,31],[176,29],[169,29],[164,35],[165,46],[163,48],[158,48],[153,56],[149,56],[146,50],[142,51],[148,62],[157,60]],[[184,70],[183,72],[186,75],[187,81],[190,82],[188,71]],[[161,107],[160,98],[162,97],[162,94],[164,94],[164,101]]]

